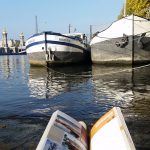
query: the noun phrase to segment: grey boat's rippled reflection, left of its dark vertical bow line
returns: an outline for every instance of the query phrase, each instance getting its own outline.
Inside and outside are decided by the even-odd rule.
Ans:
[[[131,67],[92,66],[94,93],[99,100],[115,103],[133,100]]]

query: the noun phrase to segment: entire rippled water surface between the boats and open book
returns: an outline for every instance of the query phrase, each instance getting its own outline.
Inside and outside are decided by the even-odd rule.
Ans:
[[[59,109],[92,124],[121,107],[135,146],[150,149],[150,67],[30,67],[27,56],[0,57],[0,149],[35,149]]]

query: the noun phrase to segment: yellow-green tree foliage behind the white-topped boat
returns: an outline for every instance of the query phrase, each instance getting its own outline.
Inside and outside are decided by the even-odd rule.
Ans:
[[[118,19],[123,17],[124,6],[118,16]],[[126,15],[137,15],[143,18],[150,19],[150,0],[127,0]]]

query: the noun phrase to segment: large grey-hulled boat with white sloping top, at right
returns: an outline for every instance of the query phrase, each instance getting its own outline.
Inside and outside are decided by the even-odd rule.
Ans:
[[[126,16],[94,34],[90,46],[93,63],[150,62],[150,21],[135,15]]]

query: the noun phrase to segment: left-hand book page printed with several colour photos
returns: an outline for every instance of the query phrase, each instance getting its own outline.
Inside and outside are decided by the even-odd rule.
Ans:
[[[75,119],[61,111],[56,111],[44,131],[37,150],[47,148],[50,150],[51,147],[53,149],[57,147],[57,149],[66,150],[86,150],[86,130]]]

